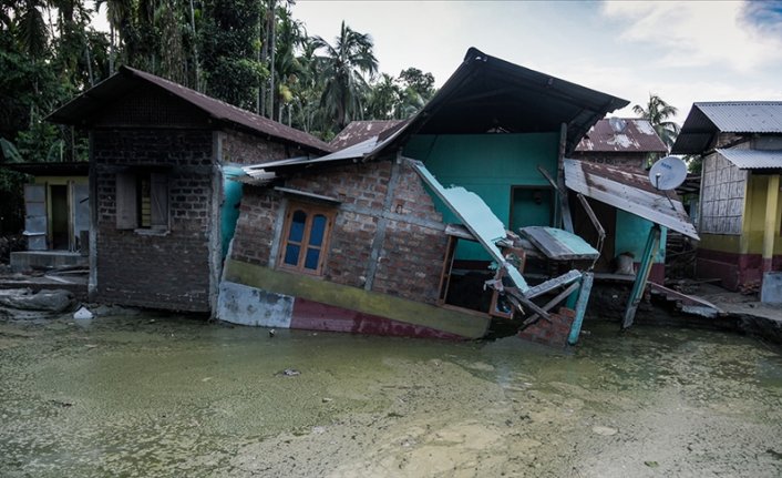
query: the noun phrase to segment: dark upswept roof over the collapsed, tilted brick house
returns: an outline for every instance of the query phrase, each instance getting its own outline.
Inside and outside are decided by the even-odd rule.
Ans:
[[[483,134],[487,132],[559,132],[567,124],[566,152],[607,113],[629,102],[558,78],[487,55],[475,48],[434,96],[407,123],[381,133],[372,145],[278,166],[369,161],[399,151],[414,134]],[[371,146],[371,148],[370,148]]]

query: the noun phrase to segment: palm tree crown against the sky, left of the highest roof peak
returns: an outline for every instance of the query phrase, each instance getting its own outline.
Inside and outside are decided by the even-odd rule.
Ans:
[[[344,24],[340,28],[337,43],[332,47],[320,37],[313,39],[318,49],[326,50],[323,57],[325,81],[320,98],[321,108],[338,129],[361,114],[362,94],[367,90],[364,74],[370,78],[378,71],[378,59],[372,53],[372,39]]]

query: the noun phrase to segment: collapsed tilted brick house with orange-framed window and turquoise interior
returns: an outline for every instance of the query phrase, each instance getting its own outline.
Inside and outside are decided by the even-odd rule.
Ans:
[[[483,336],[490,311],[454,304],[460,294],[450,286],[454,265],[485,269],[496,256],[486,253],[481,234],[456,225],[465,223],[464,211],[445,203],[436,180],[470,190],[477,200],[471,204],[486,206],[486,220],[513,231],[556,226],[558,199],[538,166],[564,184],[565,155],[607,112],[626,104],[470,49],[410,121],[323,157],[245,167],[248,186],[218,317]]]

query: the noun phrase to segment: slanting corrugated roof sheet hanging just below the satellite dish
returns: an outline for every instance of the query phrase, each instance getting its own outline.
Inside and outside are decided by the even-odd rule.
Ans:
[[[628,170],[565,160],[568,189],[596,201],[700,240],[676,192],[656,190],[646,175]]]

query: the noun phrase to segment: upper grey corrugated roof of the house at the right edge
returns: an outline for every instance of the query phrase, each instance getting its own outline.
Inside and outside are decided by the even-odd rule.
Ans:
[[[717,133],[782,133],[782,101],[692,103],[671,153],[702,153]]]

